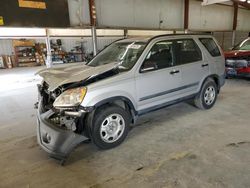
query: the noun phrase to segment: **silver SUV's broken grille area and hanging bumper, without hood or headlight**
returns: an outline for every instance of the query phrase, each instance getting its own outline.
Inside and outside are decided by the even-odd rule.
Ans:
[[[54,108],[53,103],[62,91],[61,87],[49,91],[46,82],[38,85],[38,143],[51,157],[60,160],[64,160],[78,144],[88,139],[83,135],[82,125],[88,109]]]

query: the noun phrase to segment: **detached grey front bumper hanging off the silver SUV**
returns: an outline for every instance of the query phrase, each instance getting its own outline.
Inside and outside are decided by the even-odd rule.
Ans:
[[[62,129],[49,121],[54,112],[41,113],[41,101],[37,112],[37,141],[51,157],[64,160],[81,142],[88,138],[71,130]]]

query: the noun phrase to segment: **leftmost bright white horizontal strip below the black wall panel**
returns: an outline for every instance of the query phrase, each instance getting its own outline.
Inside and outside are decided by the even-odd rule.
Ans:
[[[45,37],[46,30],[41,28],[0,27],[0,37]]]

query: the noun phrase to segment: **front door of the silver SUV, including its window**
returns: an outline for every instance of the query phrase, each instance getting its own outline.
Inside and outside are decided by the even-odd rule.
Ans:
[[[175,66],[173,41],[161,40],[151,47],[135,81],[140,112],[153,110],[179,97],[181,70]]]

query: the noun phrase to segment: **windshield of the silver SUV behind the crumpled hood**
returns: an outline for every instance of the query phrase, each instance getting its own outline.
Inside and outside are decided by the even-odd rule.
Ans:
[[[118,63],[119,69],[130,70],[140,57],[145,42],[116,42],[101,51],[87,65],[99,66],[108,63]]]

